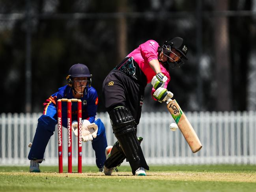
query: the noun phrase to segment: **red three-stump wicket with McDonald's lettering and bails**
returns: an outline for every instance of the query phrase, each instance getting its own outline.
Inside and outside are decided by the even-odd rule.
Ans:
[[[59,173],[63,173],[62,162],[62,101],[67,102],[67,153],[68,173],[72,173],[72,102],[77,102],[77,147],[78,147],[78,173],[82,173],[82,101],[80,99],[58,99],[58,158]]]

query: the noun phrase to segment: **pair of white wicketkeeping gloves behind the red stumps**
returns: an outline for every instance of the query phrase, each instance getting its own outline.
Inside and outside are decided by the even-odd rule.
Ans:
[[[75,136],[78,136],[77,121],[73,121],[72,130]],[[87,142],[93,140],[97,137],[98,125],[95,123],[90,123],[87,119],[82,120],[82,141]]]

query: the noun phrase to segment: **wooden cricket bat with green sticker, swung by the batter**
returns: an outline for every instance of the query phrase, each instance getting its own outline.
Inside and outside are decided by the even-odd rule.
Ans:
[[[177,123],[192,152],[199,151],[202,148],[202,144],[177,101],[169,98],[167,100],[167,109]]]

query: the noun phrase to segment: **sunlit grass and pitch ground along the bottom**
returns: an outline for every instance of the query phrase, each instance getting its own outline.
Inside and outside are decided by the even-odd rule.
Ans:
[[[0,166],[0,191],[256,192],[256,166],[251,165],[150,166],[146,177],[133,176],[129,166],[119,167],[112,176],[98,172],[96,166],[84,166],[83,173],[62,174],[57,166],[40,166],[41,173],[28,169]]]

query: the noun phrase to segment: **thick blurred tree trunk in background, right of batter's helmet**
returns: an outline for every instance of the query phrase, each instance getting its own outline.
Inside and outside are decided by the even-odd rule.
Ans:
[[[228,0],[217,0],[215,11],[228,9]],[[215,18],[215,72],[216,72],[216,110],[231,110],[231,79],[230,79],[230,48],[228,36],[228,18],[217,16]]]

